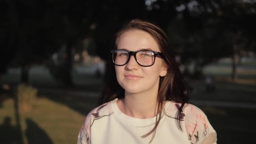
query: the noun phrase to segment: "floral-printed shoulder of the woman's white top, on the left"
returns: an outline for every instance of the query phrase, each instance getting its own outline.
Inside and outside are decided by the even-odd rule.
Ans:
[[[94,120],[98,120],[101,117],[112,115],[113,111],[110,106],[111,102],[112,101],[104,103],[88,113],[80,130],[77,144],[90,144],[91,126],[93,125],[93,122]]]

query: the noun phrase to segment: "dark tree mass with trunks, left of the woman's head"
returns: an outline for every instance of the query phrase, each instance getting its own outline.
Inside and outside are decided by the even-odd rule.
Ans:
[[[72,85],[72,48],[77,41],[88,34],[94,11],[90,3],[79,1],[15,1],[2,2],[7,13],[1,29],[3,55],[8,54],[10,63],[21,67],[21,81],[28,83],[28,71],[32,64],[43,63],[45,59],[67,48],[64,62],[66,85]]]

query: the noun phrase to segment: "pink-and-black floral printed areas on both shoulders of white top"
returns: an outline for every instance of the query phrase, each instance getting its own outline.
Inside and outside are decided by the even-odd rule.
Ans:
[[[99,128],[95,121],[103,117],[107,118],[103,118],[103,121],[109,120],[108,118],[114,113],[111,108],[111,102],[115,101],[109,101],[108,103],[102,104],[87,115],[84,125],[79,133],[77,144],[91,144],[91,128]],[[181,104],[172,101],[169,107],[165,109],[164,115],[169,119],[170,123],[176,123],[177,125],[178,120],[176,117],[180,107]],[[186,141],[189,142],[189,144],[216,144],[216,131],[212,128],[206,115],[201,109],[192,104],[185,104],[180,116],[181,133],[183,133],[184,138],[187,138]],[[173,131],[177,131],[179,128],[172,129]]]

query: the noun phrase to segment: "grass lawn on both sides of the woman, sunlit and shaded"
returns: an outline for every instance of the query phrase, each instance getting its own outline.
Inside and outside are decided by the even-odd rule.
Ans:
[[[255,94],[255,91],[253,92]],[[234,94],[236,91],[230,93]],[[0,131],[4,133],[1,134],[1,144],[9,144],[10,140],[7,138],[18,143],[23,141],[23,144],[74,144],[85,115],[96,106],[97,101],[96,98],[88,97],[40,95],[35,100],[33,109],[19,109],[19,112],[16,112],[14,98],[6,94],[0,97]],[[256,121],[256,109],[199,107],[217,131],[218,144],[256,143],[253,139],[256,133],[256,125],[253,124]],[[4,125],[4,120],[8,117],[11,121]],[[17,117],[20,123],[17,123]],[[15,128],[19,130],[17,124],[21,125],[19,132],[22,139],[19,138],[19,133],[13,134],[11,131]]]

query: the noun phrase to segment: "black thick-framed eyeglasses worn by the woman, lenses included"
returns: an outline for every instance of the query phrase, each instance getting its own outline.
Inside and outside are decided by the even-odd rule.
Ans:
[[[165,58],[163,53],[152,50],[139,50],[139,51],[128,51],[128,50],[112,50],[112,60],[117,66],[123,66],[128,63],[131,56],[134,56],[136,62],[143,67],[150,67],[155,63],[155,57],[160,56]]]

